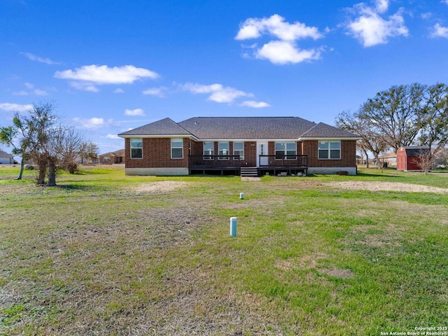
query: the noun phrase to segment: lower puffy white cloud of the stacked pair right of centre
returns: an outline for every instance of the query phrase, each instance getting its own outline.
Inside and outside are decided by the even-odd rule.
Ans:
[[[300,50],[297,45],[287,41],[271,41],[258,49],[255,57],[269,59],[274,64],[287,64],[319,59],[321,52],[316,49]]]

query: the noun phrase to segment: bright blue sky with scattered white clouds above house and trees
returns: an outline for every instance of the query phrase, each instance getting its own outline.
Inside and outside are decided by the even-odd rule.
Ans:
[[[102,153],[166,117],[334,125],[392,85],[448,83],[448,0],[0,0],[0,64],[0,126],[53,101]]]

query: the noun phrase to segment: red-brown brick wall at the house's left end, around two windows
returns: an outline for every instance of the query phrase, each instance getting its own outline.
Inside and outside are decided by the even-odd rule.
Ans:
[[[131,159],[130,139],[125,139],[126,168],[188,167],[188,139],[183,139],[183,159],[171,158],[171,139],[144,138],[143,158]]]

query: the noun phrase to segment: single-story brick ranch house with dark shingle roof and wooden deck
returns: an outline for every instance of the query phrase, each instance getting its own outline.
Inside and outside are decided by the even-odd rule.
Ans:
[[[165,118],[118,134],[127,175],[356,175],[356,134],[298,117]]]

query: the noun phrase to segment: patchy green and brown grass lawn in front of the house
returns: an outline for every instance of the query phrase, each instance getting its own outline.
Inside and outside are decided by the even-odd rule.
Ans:
[[[241,181],[86,167],[42,188],[27,171],[15,181],[18,168],[0,167],[0,335],[448,327],[448,193],[332,184],[448,190],[448,174]]]

